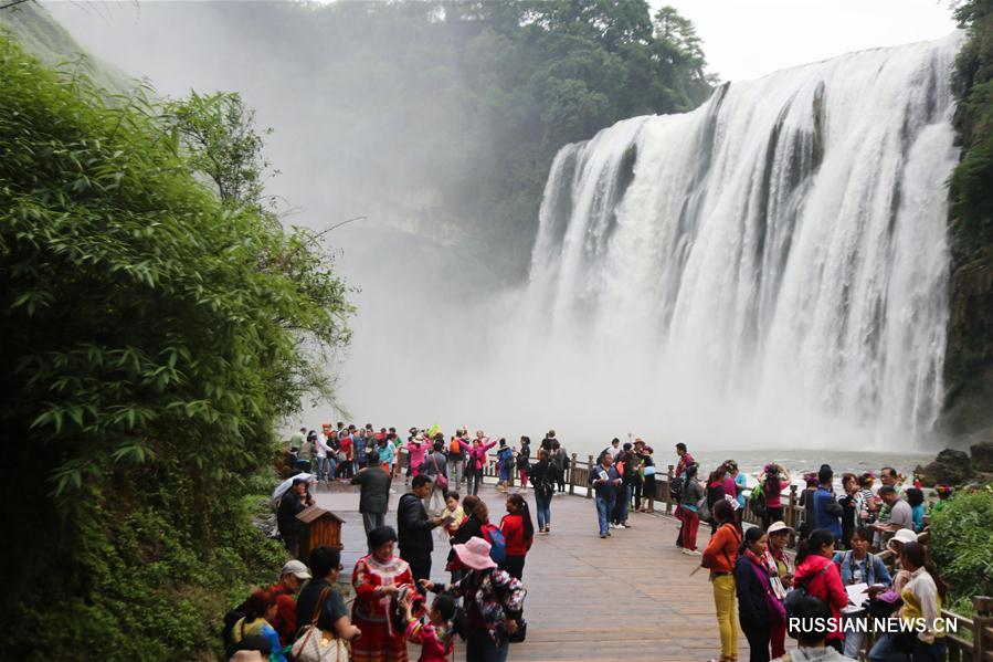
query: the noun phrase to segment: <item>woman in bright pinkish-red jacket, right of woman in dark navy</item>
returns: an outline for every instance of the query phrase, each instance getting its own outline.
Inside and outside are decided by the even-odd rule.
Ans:
[[[848,593],[842,582],[834,556],[834,534],[818,528],[807,539],[800,543],[796,550],[796,574],[793,588],[803,586],[809,596],[831,606],[831,616],[836,627],[827,633],[827,645],[844,652],[845,633],[842,632],[841,610],[848,606]]]

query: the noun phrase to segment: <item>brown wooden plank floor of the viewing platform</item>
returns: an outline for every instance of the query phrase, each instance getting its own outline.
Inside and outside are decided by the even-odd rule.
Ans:
[[[403,481],[395,481],[394,487],[387,524],[395,527]],[[534,496],[530,491],[524,494],[534,513]],[[485,485],[479,495],[489,506],[490,521],[498,523],[505,496],[493,485]],[[336,485],[329,493],[318,493],[317,503],[347,522],[342,564],[350,572],[365,554],[358,493]],[[551,534],[536,536],[524,570],[528,639],[511,644],[510,660],[691,662],[717,656],[719,639],[707,571],[690,576],[699,557],[680,554],[675,546],[674,518],[632,514],[633,528],[613,530],[612,537],[601,539],[592,500],[558,495],[551,511]],[[708,538],[709,527],[704,525],[698,543],[705,546]],[[448,549],[447,538],[435,532],[435,581],[447,581]],[[740,658],[747,659],[743,635],[739,645]],[[412,660],[420,654],[416,649],[411,647]],[[456,651],[456,659],[464,659],[462,645]]]

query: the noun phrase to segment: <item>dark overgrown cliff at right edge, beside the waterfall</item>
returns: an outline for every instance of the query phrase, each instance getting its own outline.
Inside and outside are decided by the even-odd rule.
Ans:
[[[946,422],[963,434],[993,429],[993,1],[955,7],[966,41],[955,61],[955,128],[962,160],[952,174],[952,301],[946,359]]]

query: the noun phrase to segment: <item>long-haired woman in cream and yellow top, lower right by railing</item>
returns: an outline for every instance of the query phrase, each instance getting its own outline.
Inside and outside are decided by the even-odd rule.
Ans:
[[[910,580],[900,591],[904,606],[898,617],[905,627],[915,632],[911,659],[913,662],[940,662],[944,660],[948,643],[941,620],[941,607],[948,598],[948,585],[928,557],[920,543],[907,543],[900,550],[900,566],[910,574]],[[895,634],[884,634],[869,651],[870,662],[904,662],[907,653],[897,645]]]

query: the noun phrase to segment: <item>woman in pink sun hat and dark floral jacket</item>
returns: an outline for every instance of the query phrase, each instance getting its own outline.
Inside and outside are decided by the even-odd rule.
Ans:
[[[455,556],[469,572],[456,584],[421,580],[425,590],[465,598],[468,623],[466,662],[503,662],[510,649],[510,637],[521,627],[520,613],[527,591],[520,581],[497,568],[489,557],[489,543],[469,538],[453,546]]]

